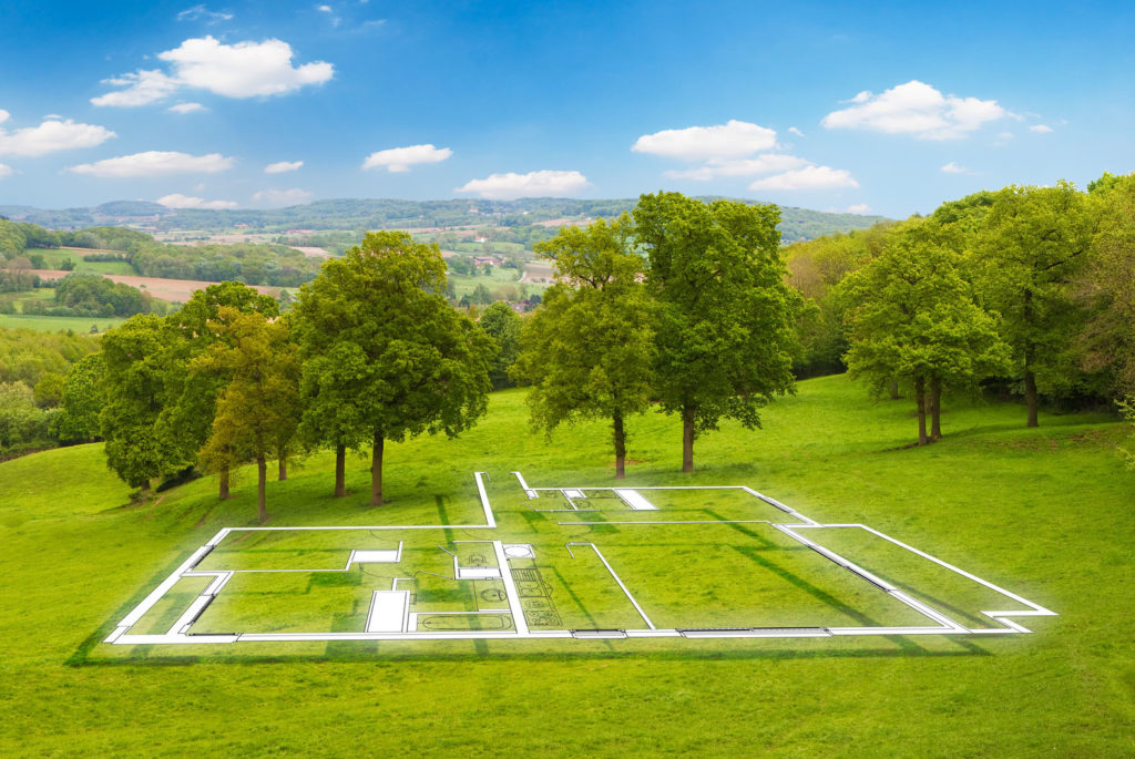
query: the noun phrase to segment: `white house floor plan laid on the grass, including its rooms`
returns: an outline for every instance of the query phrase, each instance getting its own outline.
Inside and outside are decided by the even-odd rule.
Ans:
[[[1001,635],[1056,616],[743,486],[533,488],[513,472],[490,503],[473,479],[473,524],[220,530],[104,642]]]

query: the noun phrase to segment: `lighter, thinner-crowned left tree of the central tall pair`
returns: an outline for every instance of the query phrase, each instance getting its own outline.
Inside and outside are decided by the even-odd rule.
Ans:
[[[536,251],[555,284],[526,322],[514,373],[532,383],[532,421],[550,432],[577,419],[611,420],[615,479],[625,477],[625,420],[650,405],[655,360],[645,262],[630,251],[629,217],[563,227]],[[493,306],[490,306],[491,309]]]

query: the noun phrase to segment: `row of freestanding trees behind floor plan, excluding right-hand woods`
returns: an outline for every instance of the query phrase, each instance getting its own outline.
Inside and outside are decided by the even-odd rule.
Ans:
[[[65,412],[143,491],[199,467],[219,474],[225,498],[228,472],[254,462],[261,518],[270,461],[283,479],[289,457],[331,449],[343,496],[346,452],[369,449],[379,505],[386,441],[456,436],[511,381],[533,386],[548,429],[608,416],[617,477],[628,418],[657,403],[683,421],[689,471],[698,435],[723,418],[756,427],[759,406],[791,388],[799,297],[776,221],[770,205],[645,195],[633,217],[543,244],[558,284],[532,319],[498,304],[480,323],[446,300],[436,245],[369,233],[285,314],[222,282],[169,315],[131,318],[72,372]]]

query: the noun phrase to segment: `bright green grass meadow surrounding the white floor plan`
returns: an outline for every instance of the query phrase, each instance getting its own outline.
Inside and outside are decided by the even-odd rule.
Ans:
[[[224,504],[203,479],[128,505],[98,445],[0,464],[0,745],[18,756],[1132,756],[1135,473],[1113,452],[1127,429],[1042,414],[1026,430],[1020,406],[949,403],[945,440],[906,448],[911,405],[873,404],[843,378],[809,380],[766,411],[764,430],[725,424],[699,440],[692,475],[678,472],[680,425],[648,415],[630,423],[627,482],[747,484],[824,522],[869,524],[1061,615],[1029,619],[1035,634],[108,647],[99,641],[114,623],[191,550],[220,528],[255,524],[254,477],[243,472]],[[319,455],[269,484],[268,524],[440,515],[474,470],[609,487],[608,441],[602,424],[546,441],[528,429],[522,391],[496,394],[462,438],[387,448],[387,506],[365,506],[362,457],[348,463],[352,496],[329,497],[331,461]]]

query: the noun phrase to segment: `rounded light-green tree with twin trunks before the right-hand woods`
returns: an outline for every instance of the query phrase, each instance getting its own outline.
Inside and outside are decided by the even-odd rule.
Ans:
[[[994,319],[975,303],[962,277],[959,248],[958,234],[915,219],[843,285],[855,304],[848,317],[849,372],[865,377],[876,394],[896,378],[914,385],[918,445],[942,437],[943,385],[975,387],[1008,365]]]

